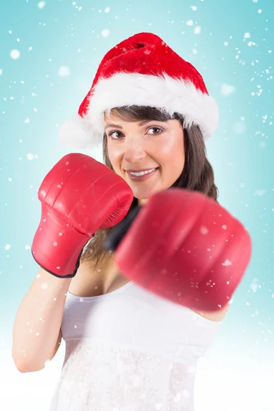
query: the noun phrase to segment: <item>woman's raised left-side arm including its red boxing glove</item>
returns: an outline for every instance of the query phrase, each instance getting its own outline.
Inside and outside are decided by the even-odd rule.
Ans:
[[[127,214],[133,192],[116,173],[88,155],[69,153],[38,189],[41,218],[32,256],[41,269],[16,313],[12,357],[21,372],[38,371],[60,345],[66,292],[80,256],[97,229]]]

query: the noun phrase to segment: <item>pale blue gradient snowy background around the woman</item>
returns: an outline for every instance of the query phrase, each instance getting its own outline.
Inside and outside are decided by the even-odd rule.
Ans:
[[[5,1],[0,14],[0,397],[7,401],[5,410],[19,404],[20,410],[47,410],[62,365],[64,347],[47,369],[32,375],[18,373],[10,358],[14,316],[38,271],[30,250],[40,221],[37,190],[53,164],[71,151],[60,146],[58,125],[76,114],[103,55],[143,31],[158,34],[194,64],[219,104],[219,129],[208,142],[208,158],[220,203],[242,221],[253,242],[229,314],[201,360],[196,409],[274,410],[273,10],[271,0],[51,0],[43,8],[38,1]],[[16,60],[10,56],[14,49],[21,53]],[[101,160],[99,150],[84,152]]]

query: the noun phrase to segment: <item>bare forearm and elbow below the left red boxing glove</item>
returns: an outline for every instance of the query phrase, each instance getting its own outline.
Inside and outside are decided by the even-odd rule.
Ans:
[[[14,321],[12,358],[18,371],[39,371],[52,360],[61,342],[60,326],[71,278],[39,269]]]

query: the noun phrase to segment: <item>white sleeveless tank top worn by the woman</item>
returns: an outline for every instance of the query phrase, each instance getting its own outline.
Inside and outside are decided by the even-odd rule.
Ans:
[[[68,292],[50,411],[194,410],[197,360],[219,325],[134,282],[97,297]]]

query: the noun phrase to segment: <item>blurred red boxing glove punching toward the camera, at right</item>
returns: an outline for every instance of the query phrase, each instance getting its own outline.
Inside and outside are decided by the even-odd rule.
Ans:
[[[121,273],[164,299],[213,312],[232,298],[251,258],[242,224],[200,192],[153,195],[116,249]]]

